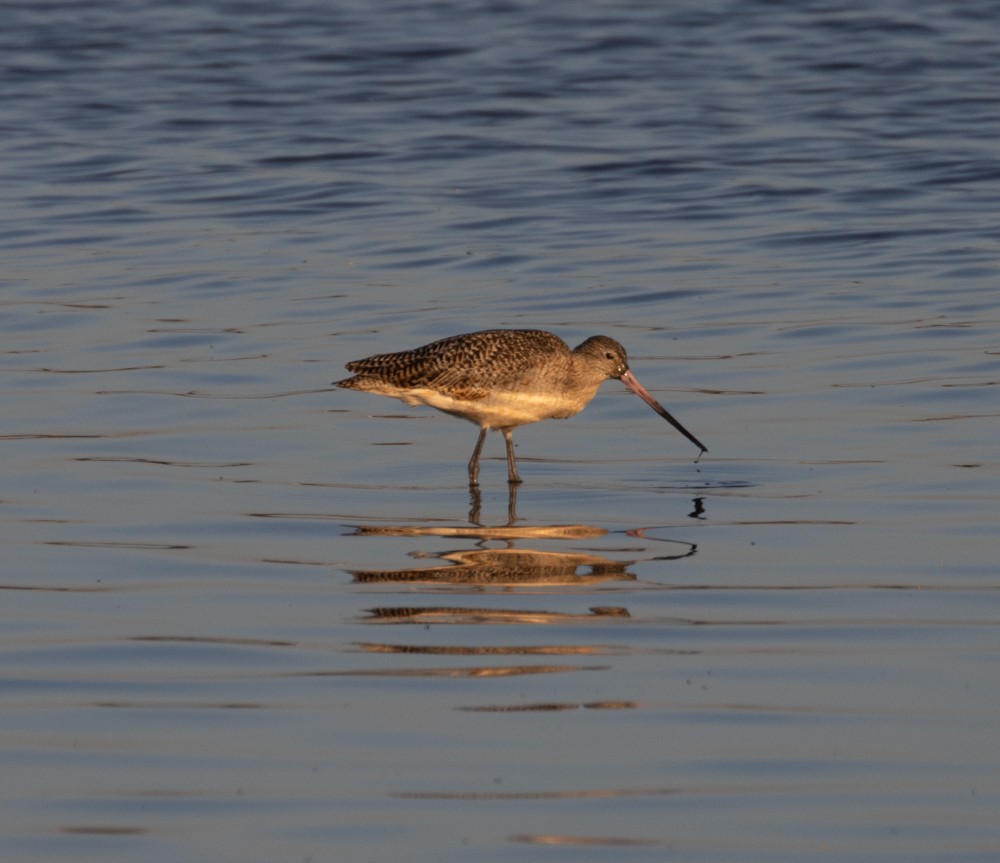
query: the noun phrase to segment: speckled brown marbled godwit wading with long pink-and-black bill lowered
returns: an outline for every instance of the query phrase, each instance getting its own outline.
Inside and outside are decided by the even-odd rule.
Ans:
[[[479,426],[469,460],[469,485],[479,484],[479,454],[486,432],[499,431],[507,444],[507,481],[520,482],[514,460],[514,429],[582,411],[597,388],[618,378],[677,431],[708,452],[629,371],[628,357],[614,339],[591,336],[572,351],[542,330],[483,330],[378,354],[347,364],[354,377],[338,387],[391,396],[408,405],[430,405]]]

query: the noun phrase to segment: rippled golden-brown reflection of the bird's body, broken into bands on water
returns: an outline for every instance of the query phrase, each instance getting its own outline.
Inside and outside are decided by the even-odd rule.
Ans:
[[[551,597],[565,590],[573,596],[594,596],[596,591],[613,590],[622,585],[638,583],[638,577],[629,571],[643,555],[646,543],[656,543],[654,555],[643,555],[642,562],[676,560],[689,557],[696,551],[693,543],[678,542],[647,535],[655,528],[633,528],[625,531],[629,545],[640,549],[627,560],[616,560],[597,554],[589,546],[609,536],[604,528],[584,524],[525,525],[515,524],[511,519],[507,524],[497,526],[472,525],[428,525],[399,524],[360,526],[354,529],[354,536],[363,537],[412,537],[445,538],[452,546],[449,549],[427,552],[414,549],[411,557],[419,558],[423,565],[400,566],[392,569],[365,569],[350,572],[356,584],[365,585],[372,591],[388,590],[396,594],[405,591],[405,603],[380,605],[370,608],[363,618],[370,625],[409,625],[410,637],[404,643],[389,643],[390,639],[371,640],[357,643],[357,648],[370,654],[387,654],[410,657],[403,665],[375,667],[366,665],[351,672],[365,675],[401,676],[445,676],[452,678],[490,679],[523,676],[531,674],[565,674],[571,671],[607,671],[609,665],[552,664],[555,657],[572,657],[577,663],[587,658],[617,656],[628,653],[628,648],[620,644],[607,644],[597,639],[579,639],[571,636],[567,642],[557,640],[556,644],[530,644],[514,638],[504,638],[501,644],[487,643],[490,639],[474,638],[471,643],[446,644],[422,643],[420,633],[437,626],[558,626],[564,631],[574,632],[581,626],[601,626],[595,632],[620,633],[621,624],[630,618],[627,608],[617,605],[590,605],[585,608],[559,610],[545,608],[548,604],[539,601],[543,607],[524,608],[512,601],[490,604],[489,597],[502,595],[506,598],[518,593],[535,593],[541,597]],[[642,546],[636,546],[636,541]],[[456,548],[460,542],[473,547]],[[551,548],[519,548],[515,545],[546,543]],[[577,546],[572,551],[558,548],[561,543]],[[587,547],[580,549],[579,545]],[[496,545],[502,547],[492,547]],[[614,543],[614,548],[618,543]],[[621,547],[614,548],[617,554],[628,553]],[[663,554],[667,551],[667,554]],[[430,558],[430,560],[428,560]],[[413,598],[418,593],[436,594],[450,592],[454,596],[469,597],[475,594],[479,599],[474,603],[446,602],[434,605],[417,605]],[[596,598],[596,597],[595,597]],[[562,603],[560,603],[561,606]],[[532,603],[534,605],[534,603]],[[610,625],[610,627],[609,627]],[[565,629],[567,628],[568,629]],[[485,633],[485,629],[479,631]],[[512,643],[513,642],[513,643]],[[442,667],[434,662],[421,661],[420,657],[461,657],[466,662],[455,662]],[[636,702],[630,699],[609,699],[602,702],[554,702],[529,701],[505,703],[487,700],[485,703],[462,705],[460,709],[484,712],[513,711],[553,711],[579,708],[591,709],[635,709]]]

